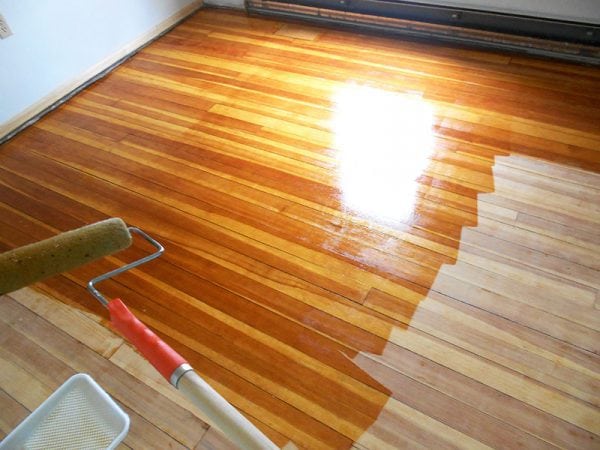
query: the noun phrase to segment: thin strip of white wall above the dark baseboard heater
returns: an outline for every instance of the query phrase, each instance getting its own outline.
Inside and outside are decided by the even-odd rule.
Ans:
[[[600,0],[411,0],[458,8],[600,24]]]

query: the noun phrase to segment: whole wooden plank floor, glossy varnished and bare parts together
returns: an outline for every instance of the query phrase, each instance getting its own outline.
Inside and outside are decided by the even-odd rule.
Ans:
[[[203,10],[0,148],[0,246],[155,236],[103,291],[278,445],[598,448],[599,105],[595,68]],[[38,288],[96,323],[86,281],[143,247]],[[17,296],[3,431],[95,351],[137,423],[212,439]]]

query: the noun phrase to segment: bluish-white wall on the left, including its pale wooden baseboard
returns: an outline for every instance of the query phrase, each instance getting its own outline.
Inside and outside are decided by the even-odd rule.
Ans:
[[[0,40],[0,138],[199,4],[0,0],[13,32]]]

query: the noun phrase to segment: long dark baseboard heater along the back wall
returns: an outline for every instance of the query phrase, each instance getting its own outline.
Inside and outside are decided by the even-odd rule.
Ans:
[[[321,5],[330,5],[330,7],[325,8]],[[395,9],[388,11],[383,8],[384,5]],[[600,27],[596,25],[588,26],[493,13],[488,15],[486,12],[480,14],[479,12],[473,13],[466,10],[441,7],[439,11],[434,11],[432,15],[422,14],[414,18],[405,18],[401,14],[401,10],[403,11],[406,5],[409,8],[422,8],[422,6],[415,6],[410,2],[387,0],[352,0],[350,2],[339,2],[337,0],[246,0],[246,10],[251,15],[257,14],[278,19],[343,27],[358,30],[361,33],[387,34],[427,42],[436,40],[465,47],[525,53],[580,64],[600,65],[600,45],[597,45],[598,34],[595,31]],[[376,6],[380,6],[382,9],[377,9]],[[458,18],[456,24],[448,24],[446,23],[447,20],[442,20],[446,16],[451,19],[454,12],[456,12]],[[439,13],[439,17],[434,13]],[[500,22],[494,26],[506,28],[506,24],[510,23],[514,27],[514,32],[511,32],[508,28],[505,31],[493,31],[494,26],[492,25],[488,29],[487,26],[484,26],[484,16],[485,20],[491,22],[502,16],[501,20],[498,19]],[[462,20],[461,18],[465,17],[469,19],[467,21],[469,26],[458,23]],[[482,29],[475,26],[477,20],[480,19]],[[516,25],[517,22],[518,26]],[[525,33],[528,28],[527,24],[534,22],[537,24],[536,30],[540,36],[529,36]],[[541,22],[544,22],[544,24],[542,25]],[[546,26],[553,28],[552,33],[554,34],[548,33],[548,35],[542,36]],[[533,30],[533,25],[530,28]],[[589,36],[588,31],[591,32]],[[560,35],[565,37],[559,38]]]

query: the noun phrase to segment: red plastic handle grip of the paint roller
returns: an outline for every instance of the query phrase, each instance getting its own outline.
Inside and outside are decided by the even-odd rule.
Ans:
[[[186,364],[186,360],[140,322],[121,299],[116,298],[109,302],[108,311],[113,327],[135,345],[167,381],[171,381],[175,369]]]

